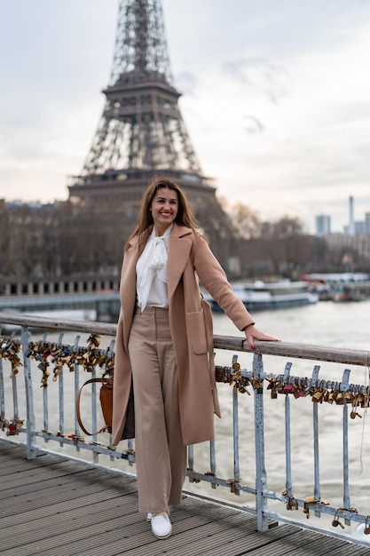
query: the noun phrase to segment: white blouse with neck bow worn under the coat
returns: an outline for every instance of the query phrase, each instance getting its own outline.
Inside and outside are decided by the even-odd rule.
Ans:
[[[138,258],[136,266],[138,306],[142,311],[146,306],[169,306],[167,293],[167,250],[169,249],[169,226],[161,236],[152,234]]]

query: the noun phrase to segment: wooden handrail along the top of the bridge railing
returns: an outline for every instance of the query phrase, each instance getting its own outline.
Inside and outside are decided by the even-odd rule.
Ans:
[[[39,330],[66,330],[86,334],[101,334],[115,337],[116,324],[91,321],[71,321],[52,319],[31,314],[13,314],[0,312],[0,323],[37,328]],[[1,324],[0,324],[1,332]],[[332,346],[312,346],[288,342],[255,342],[255,350],[251,350],[245,338],[233,336],[214,336],[216,349],[234,350],[237,352],[261,353],[295,359],[330,361],[347,365],[370,366],[370,351]]]

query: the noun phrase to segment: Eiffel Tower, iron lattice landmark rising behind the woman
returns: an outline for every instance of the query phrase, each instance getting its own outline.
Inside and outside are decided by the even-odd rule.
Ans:
[[[212,180],[201,166],[177,101],[161,0],[121,0],[106,105],[69,200],[83,210],[119,210],[135,218],[150,179],[166,175],[184,187],[209,235],[230,234]]]

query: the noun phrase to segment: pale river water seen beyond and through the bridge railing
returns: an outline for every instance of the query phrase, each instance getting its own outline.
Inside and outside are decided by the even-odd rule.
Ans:
[[[261,311],[253,314],[256,327],[275,336],[282,341],[315,346],[332,346],[340,348],[369,349],[368,318],[370,314],[370,299],[360,302],[335,303],[321,301],[315,305],[291,307],[274,311]],[[214,314],[214,333],[216,335],[242,336],[235,329],[232,322],[224,314]],[[57,335],[48,337],[50,340]],[[36,338],[35,338],[36,339]],[[73,343],[74,335],[66,334],[64,343]],[[85,338],[80,344],[83,346]],[[103,340],[104,342],[104,340]],[[110,338],[106,340],[106,346]],[[102,346],[105,347],[105,346]],[[251,369],[253,354],[239,354],[242,369]],[[232,353],[216,352],[216,364],[231,365]],[[280,374],[284,370],[284,358],[265,356],[264,370]],[[315,361],[292,360],[291,375],[310,377]],[[35,363],[34,363],[35,364]],[[319,377],[322,379],[338,380],[342,378],[344,367],[333,363],[321,363]],[[350,369],[350,383],[367,384],[368,369],[363,367]],[[84,379],[84,376],[83,376]],[[67,381],[66,381],[67,382]],[[67,395],[73,399],[73,381],[67,386]],[[49,390],[52,390],[49,388]],[[55,388],[55,390],[57,390]],[[249,390],[252,393],[252,388]],[[232,477],[232,388],[230,385],[218,386],[223,418],[216,418],[216,472],[224,478]],[[69,392],[69,393],[68,393]],[[36,392],[35,392],[36,393]],[[51,392],[50,392],[51,393]],[[41,398],[42,396],[38,396]],[[85,398],[86,404],[90,401]],[[42,411],[39,402],[35,402],[35,413]],[[278,400],[271,400],[269,393],[264,396],[265,409],[265,454],[267,487],[282,492],[286,487],[285,479],[285,433],[284,433],[284,396]],[[366,409],[359,409],[362,417],[349,419],[349,450],[350,450],[350,505],[358,512],[370,514],[370,416]],[[57,412],[56,412],[57,413]],[[311,398],[291,398],[291,436],[292,436],[292,470],[293,493],[298,497],[313,496],[313,459],[312,459],[312,402]],[[254,438],[254,405],[253,395],[240,395],[240,476],[242,482],[255,486],[255,438]],[[50,425],[52,430],[52,425]],[[66,429],[67,430],[67,429]],[[103,435],[104,436],[104,435]],[[340,507],[342,503],[342,406],[322,403],[319,405],[319,457],[321,498],[327,500],[333,507]],[[101,441],[107,442],[106,439]],[[50,449],[54,449],[49,445]],[[124,449],[124,445],[120,446]],[[64,448],[64,452],[70,451]],[[75,455],[75,449],[72,449]],[[77,454],[78,456],[78,454]],[[131,473],[134,468],[124,461],[109,462],[104,457],[101,463],[123,468]],[[209,471],[209,443],[195,447],[194,468],[201,473]],[[209,485],[185,484],[185,488],[213,496],[226,497],[235,503],[253,504],[248,495],[234,496],[226,488],[211,490]],[[269,503],[270,509],[284,512],[284,505]],[[291,517],[306,519],[303,512],[288,512]],[[292,515],[293,514],[293,515]],[[300,514],[300,516],[298,516]],[[327,527],[325,519],[315,520]],[[312,523],[313,524],[313,523]],[[330,523],[329,523],[330,526]],[[350,531],[348,531],[350,532]]]

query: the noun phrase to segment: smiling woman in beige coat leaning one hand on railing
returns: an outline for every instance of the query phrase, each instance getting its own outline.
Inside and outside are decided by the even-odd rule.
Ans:
[[[224,270],[196,230],[184,192],[168,178],[146,190],[126,243],[114,365],[113,445],[122,440],[131,383],[138,506],[158,538],[181,502],[186,446],[214,437],[220,417],[212,321],[198,277],[249,346],[276,338],[257,330]]]

